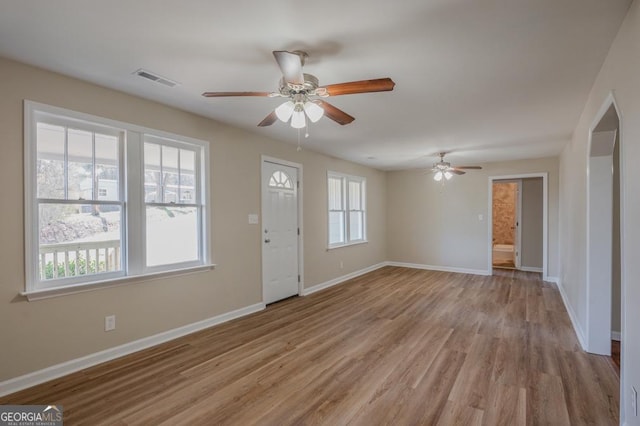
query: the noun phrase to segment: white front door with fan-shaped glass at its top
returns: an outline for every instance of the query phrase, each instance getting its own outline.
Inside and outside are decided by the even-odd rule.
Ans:
[[[298,169],[262,162],[264,303],[298,294]]]

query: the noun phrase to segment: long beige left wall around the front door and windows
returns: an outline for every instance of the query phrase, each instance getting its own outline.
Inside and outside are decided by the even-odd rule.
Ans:
[[[306,287],[386,260],[383,172],[16,62],[0,59],[0,75],[0,381],[261,302],[260,227],[247,221],[260,213],[261,155],[303,164]],[[18,296],[24,99],[210,141],[215,270],[36,302]],[[328,169],[367,178],[368,244],[326,250]],[[105,333],[108,314],[118,327]]]

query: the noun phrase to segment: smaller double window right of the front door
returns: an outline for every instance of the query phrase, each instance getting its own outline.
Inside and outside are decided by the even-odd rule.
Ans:
[[[366,179],[329,172],[329,247],[366,242]]]

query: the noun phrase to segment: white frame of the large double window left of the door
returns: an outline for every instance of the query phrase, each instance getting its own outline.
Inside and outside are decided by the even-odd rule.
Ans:
[[[42,280],[38,267],[39,224],[37,201],[37,145],[36,126],[38,120],[75,123],[82,128],[115,129],[122,133],[119,145],[119,190],[118,201],[122,209],[121,241],[122,270],[100,274],[82,275],[59,279]],[[29,300],[78,293],[105,286],[121,285],[128,282],[146,280],[150,277],[169,276],[182,273],[209,270],[215,265],[211,254],[209,182],[209,143],[206,141],[149,129],[134,124],[123,123],[90,114],[80,113],[55,106],[25,100],[24,102],[24,171],[25,171],[25,291]],[[188,146],[196,150],[195,182],[199,195],[194,204],[199,206],[198,224],[199,259],[194,262],[161,265],[147,268],[145,253],[145,200],[144,200],[144,140],[145,136],[158,138],[175,146]],[[64,201],[70,202],[70,201]],[[191,204],[189,204],[191,205]]]

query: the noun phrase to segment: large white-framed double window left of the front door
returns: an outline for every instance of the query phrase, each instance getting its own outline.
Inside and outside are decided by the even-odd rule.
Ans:
[[[209,266],[207,152],[26,102],[26,294]]]

